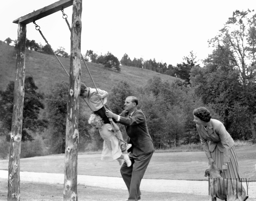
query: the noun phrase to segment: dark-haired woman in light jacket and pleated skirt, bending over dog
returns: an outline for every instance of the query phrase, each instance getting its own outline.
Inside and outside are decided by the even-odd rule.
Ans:
[[[215,163],[222,170],[223,178],[238,178],[240,181],[234,140],[223,123],[212,119],[205,107],[196,108],[193,115],[209,165]]]

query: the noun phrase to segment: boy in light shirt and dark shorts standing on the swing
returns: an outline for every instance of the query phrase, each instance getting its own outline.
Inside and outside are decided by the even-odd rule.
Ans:
[[[99,94],[97,93],[97,91]],[[96,115],[99,115],[102,118],[104,124],[110,124],[110,121],[105,114],[105,111],[106,111],[105,108],[107,110],[110,110],[110,108],[107,105],[107,96],[108,96],[107,91],[104,91],[101,89],[96,90],[94,88],[87,87],[82,82],[80,84],[80,97],[87,99],[88,105],[90,106],[93,113]],[[105,108],[102,105],[101,99],[102,99],[103,104],[105,105]],[[122,152],[128,150],[131,147],[131,144],[124,143],[123,136],[122,136],[121,132],[117,132],[117,134],[118,134],[119,144],[120,144]]]

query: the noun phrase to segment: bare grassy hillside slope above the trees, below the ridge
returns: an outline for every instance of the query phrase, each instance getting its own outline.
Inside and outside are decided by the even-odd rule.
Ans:
[[[61,63],[69,72],[69,58],[59,57]],[[82,64],[81,82],[94,88],[85,64]],[[134,68],[130,66],[121,66],[121,72],[115,72],[112,69],[105,68],[101,64],[87,63],[93,80],[97,88],[110,92],[112,86],[116,86],[119,81],[124,80],[130,86],[137,88],[144,86],[148,79],[154,75],[159,75],[162,80],[172,82],[175,77],[151,72],[145,69]],[[0,41],[0,90],[5,90],[9,81],[14,81],[16,70],[16,50],[13,46],[8,46]],[[55,83],[61,80],[69,82],[68,75],[58,63],[54,55],[27,50],[25,55],[25,75],[31,75],[38,86],[39,91],[47,93],[54,87]]]

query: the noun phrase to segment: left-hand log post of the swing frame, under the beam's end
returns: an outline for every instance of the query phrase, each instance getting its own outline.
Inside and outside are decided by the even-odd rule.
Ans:
[[[24,102],[26,24],[19,23],[14,82],[13,119],[8,168],[8,200],[20,200],[20,145]]]

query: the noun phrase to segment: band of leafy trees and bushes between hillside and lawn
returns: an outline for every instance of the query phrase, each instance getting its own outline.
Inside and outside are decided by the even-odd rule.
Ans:
[[[235,11],[218,35],[208,41],[213,51],[204,60],[203,67],[196,64],[192,52],[190,57],[184,57],[184,69],[179,68],[184,75],[188,74],[186,79],[170,83],[155,76],[140,88],[119,82],[109,92],[110,107],[113,112],[121,113],[127,96],[138,97],[149,133],[159,149],[199,143],[192,111],[201,106],[211,111],[212,118],[223,122],[234,140],[256,143],[255,27],[254,11]],[[92,56],[93,51],[88,51],[89,55]],[[14,82],[11,82],[5,91],[0,91],[0,137],[7,140],[11,130],[13,87]],[[22,141],[29,144],[29,141],[37,140],[37,150],[39,147],[43,150],[38,154],[64,152],[68,100],[65,87],[68,88],[68,83],[59,83],[44,95],[37,92],[32,77],[25,79],[27,95],[24,98]],[[42,104],[43,99],[46,105]],[[79,108],[80,114],[85,109],[83,107]],[[120,127],[124,134],[123,126]],[[102,139],[91,129],[84,115],[79,117],[79,135],[80,151],[101,148]]]

